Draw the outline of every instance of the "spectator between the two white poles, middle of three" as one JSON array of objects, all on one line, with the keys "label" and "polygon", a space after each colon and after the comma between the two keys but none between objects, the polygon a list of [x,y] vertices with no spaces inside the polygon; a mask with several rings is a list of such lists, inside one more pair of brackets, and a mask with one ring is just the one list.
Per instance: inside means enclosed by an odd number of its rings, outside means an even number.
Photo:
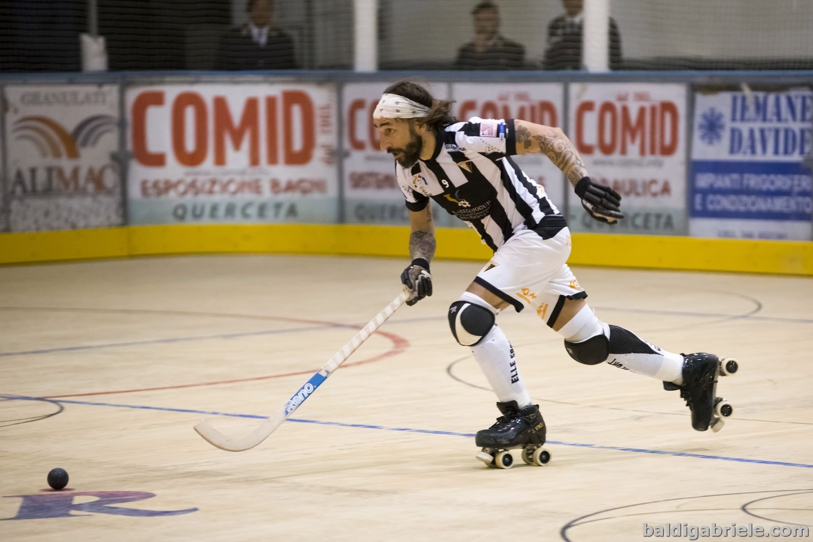
[{"label": "spectator between the two white poles, middle of three", "polygon": [[519,70],[525,48],[499,33],[500,15],[493,2],[480,2],[472,11],[474,40],[458,51],[454,65],[460,70]]}]

